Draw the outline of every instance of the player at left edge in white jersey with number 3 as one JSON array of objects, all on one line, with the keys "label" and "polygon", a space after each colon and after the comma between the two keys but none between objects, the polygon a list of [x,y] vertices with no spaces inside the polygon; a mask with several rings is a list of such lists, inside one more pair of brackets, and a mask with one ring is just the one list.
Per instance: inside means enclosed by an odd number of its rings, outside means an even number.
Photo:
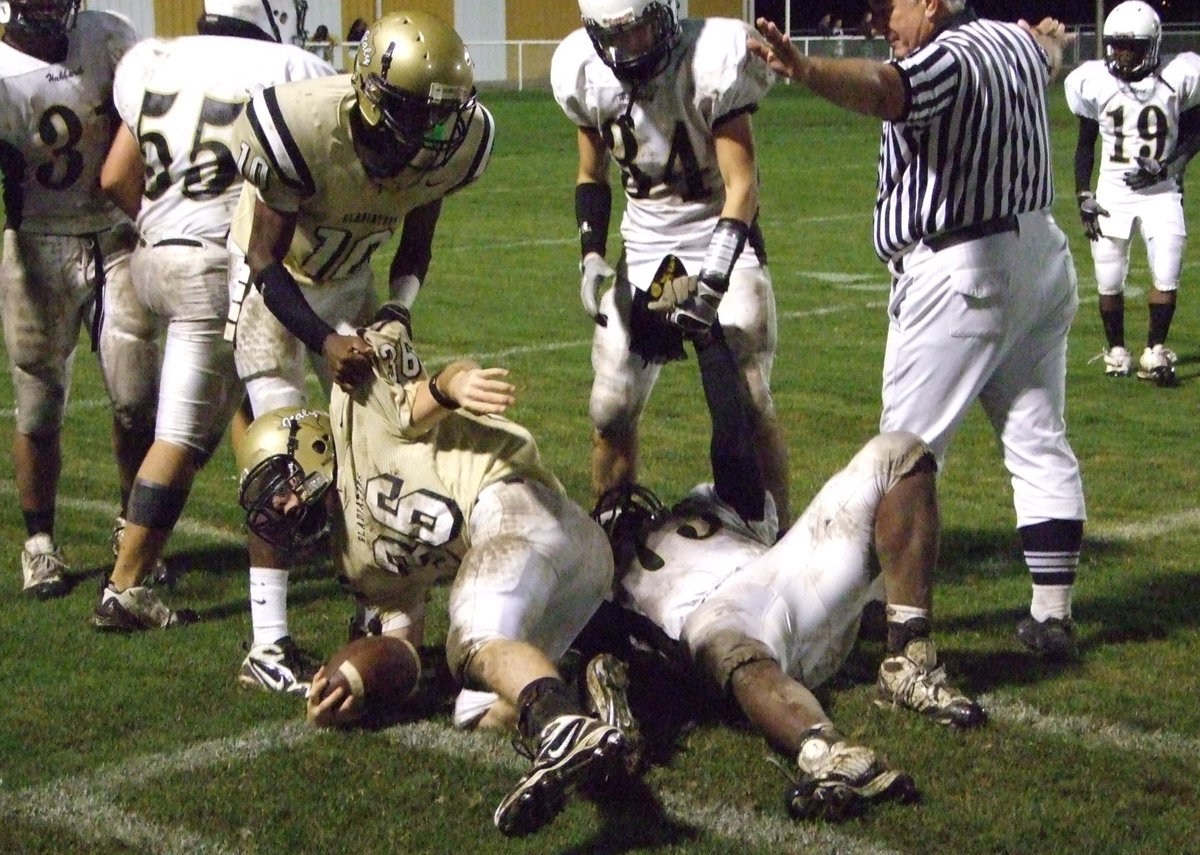
[{"label": "player at left edge in white jersey with number 3", "polygon": [[54,518],[82,325],[90,327],[113,402],[122,515],[154,438],[158,347],[146,330],[113,323],[136,303],[128,264],[136,234],[97,180],[116,127],[113,72],[137,36],[115,14],[79,12],[78,0],[0,2],[0,24],[7,217],[0,287],[17,405],[12,459],[29,536],[24,587],[42,598],[67,590]]}]

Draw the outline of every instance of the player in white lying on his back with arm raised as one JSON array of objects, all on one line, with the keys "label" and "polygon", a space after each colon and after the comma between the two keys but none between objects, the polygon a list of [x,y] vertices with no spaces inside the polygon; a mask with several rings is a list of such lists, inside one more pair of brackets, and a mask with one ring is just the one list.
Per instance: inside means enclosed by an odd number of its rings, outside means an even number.
[{"label": "player in white lying on his back with arm raised", "polygon": [[[774,747],[796,758],[799,773],[787,794],[794,817],[840,819],[870,800],[908,801],[912,778],[851,745],[812,692],[841,668],[864,606],[882,588],[888,653],[877,702],[960,728],[986,721],[946,682],[929,638],[940,536],[934,454],[912,434],[876,436],[776,543],[737,367],[719,324],[712,331],[695,343],[713,418],[714,483],[670,509],[636,485],[600,500],[593,516],[613,546],[614,599],[655,627],[644,641],[732,696]],[[872,555],[882,568],[874,581]]]}]

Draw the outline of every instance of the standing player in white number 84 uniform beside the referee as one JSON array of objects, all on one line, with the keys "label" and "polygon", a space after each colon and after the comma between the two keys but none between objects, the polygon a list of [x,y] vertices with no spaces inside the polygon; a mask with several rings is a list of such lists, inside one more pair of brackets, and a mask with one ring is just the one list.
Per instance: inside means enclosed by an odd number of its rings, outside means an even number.
[{"label": "standing player in white number 84 uniform beside the referee", "polygon": [[[655,270],[671,253],[695,274],[694,293],[671,317],[695,328],[721,318],[786,527],[787,446],[770,395],[775,298],[757,225],[750,122],[773,76],[746,53],[751,30],[743,22],[680,22],[677,7],[580,0],[583,29],[563,40],[551,65],[554,97],[578,138],[580,297],[595,321],[592,488],[599,497],[636,478],[638,419],[662,363],[684,358],[678,336],[647,312]],[[616,273],[606,261],[612,161],[626,201]]]}]

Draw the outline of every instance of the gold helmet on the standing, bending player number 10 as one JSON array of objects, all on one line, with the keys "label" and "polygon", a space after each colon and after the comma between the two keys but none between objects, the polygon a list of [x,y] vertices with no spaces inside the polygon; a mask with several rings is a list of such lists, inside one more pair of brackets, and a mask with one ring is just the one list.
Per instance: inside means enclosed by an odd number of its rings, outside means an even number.
[{"label": "gold helmet on the standing, bending player number 10", "polygon": [[475,112],[475,66],[451,26],[426,12],[389,14],[367,28],[352,76],[362,121],[391,132],[409,160],[444,165]]}]

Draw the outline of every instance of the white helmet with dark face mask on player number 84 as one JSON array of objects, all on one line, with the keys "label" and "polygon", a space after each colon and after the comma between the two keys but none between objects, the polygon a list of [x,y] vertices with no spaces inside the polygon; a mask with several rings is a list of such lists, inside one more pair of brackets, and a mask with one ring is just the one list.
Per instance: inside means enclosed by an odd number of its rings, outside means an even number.
[{"label": "white helmet with dark face mask on player number 84", "polygon": [[677,0],[580,0],[583,29],[605,65],[623,80],[662,71],[679,41]]}]

